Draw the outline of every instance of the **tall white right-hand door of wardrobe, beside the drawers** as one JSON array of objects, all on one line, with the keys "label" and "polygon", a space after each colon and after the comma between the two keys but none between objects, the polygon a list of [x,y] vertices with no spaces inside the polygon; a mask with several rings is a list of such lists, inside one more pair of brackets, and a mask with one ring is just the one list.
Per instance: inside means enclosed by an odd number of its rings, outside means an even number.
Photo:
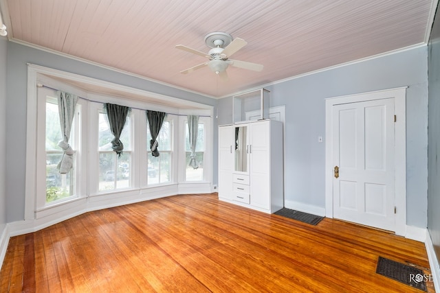
[{"label": "tall white right-hand door of wardrobe, beside the drawers", "polygon": [[270,209],[270,121],[250,126],[250,204]]}]

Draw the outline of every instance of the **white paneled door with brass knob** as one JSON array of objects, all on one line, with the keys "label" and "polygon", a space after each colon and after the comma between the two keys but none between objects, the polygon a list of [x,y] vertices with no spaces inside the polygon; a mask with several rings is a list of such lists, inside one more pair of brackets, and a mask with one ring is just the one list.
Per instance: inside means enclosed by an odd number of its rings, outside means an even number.
[{"label": "white paneled door with brass knob", "polygon": [[395,231],[394,99],[333,105],[333,217]]}]

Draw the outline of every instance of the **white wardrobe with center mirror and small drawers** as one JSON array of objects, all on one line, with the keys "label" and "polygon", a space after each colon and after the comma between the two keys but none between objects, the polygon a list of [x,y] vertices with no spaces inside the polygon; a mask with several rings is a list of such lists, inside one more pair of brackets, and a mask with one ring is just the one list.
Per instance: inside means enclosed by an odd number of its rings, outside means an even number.
[{"label": "white wardrobe with center mirror and small drawers", "polygon": [[219,199],[265,213],[283,208],[283,124],[219,126]]}]

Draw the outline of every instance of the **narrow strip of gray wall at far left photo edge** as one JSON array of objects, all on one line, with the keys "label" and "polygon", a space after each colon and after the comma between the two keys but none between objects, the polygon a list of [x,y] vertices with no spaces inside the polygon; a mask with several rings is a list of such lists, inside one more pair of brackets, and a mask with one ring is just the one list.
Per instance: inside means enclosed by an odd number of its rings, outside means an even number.
[{"label": "narrow strip of gray wall at far left photo edge", "polygon": [[[8,39],[0,36],[0,137],[6,137],[6,68]],[[6,226],[6,152],[5,139],[0,139],[0,235]]]}]

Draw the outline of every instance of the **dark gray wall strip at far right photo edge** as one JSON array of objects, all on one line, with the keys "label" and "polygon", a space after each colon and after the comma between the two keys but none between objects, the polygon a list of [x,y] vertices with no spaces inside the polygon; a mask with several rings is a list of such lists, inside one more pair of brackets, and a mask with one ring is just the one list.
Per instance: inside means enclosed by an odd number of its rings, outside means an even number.
[{"label": "dark gray wall strip at far right photo edge", "polygon": [[428,231],[440,263],[440,19],[428,43]]}]

